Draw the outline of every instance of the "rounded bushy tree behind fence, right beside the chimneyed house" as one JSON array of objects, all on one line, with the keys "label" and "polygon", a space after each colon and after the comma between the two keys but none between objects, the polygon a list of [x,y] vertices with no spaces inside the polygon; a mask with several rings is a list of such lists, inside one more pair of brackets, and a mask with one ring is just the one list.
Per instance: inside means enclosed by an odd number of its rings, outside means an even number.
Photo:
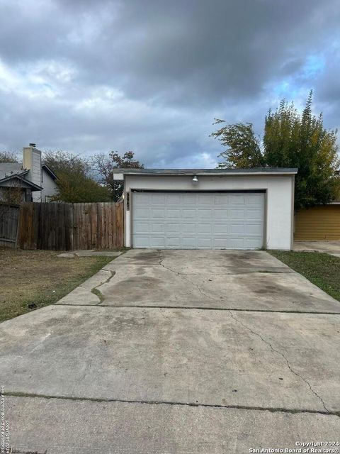
[{"label": "rounded bushy tree behind fence, right beside the chimneyed house", "polygon": [[57,194],[54,201],[96,202],[111,201],[106,187],[90,176],[89,161],[64,151],[47,152],[44,162],[57,175]]}]

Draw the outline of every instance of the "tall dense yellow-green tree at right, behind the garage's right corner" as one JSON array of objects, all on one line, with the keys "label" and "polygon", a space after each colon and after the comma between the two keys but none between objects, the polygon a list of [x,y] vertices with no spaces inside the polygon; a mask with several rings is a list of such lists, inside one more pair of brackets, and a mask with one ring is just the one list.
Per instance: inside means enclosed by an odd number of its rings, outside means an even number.
[{"label": "tall dense yellow-green tree at right, behind the garage's right corner", "polygon": [[302,115],[281,101],[266,116],[263,157],[269,167],[298,167],[295,208],[327,204],[338,196],[337,131],[327,131],[322,114],[312,114],[312,92]]}]

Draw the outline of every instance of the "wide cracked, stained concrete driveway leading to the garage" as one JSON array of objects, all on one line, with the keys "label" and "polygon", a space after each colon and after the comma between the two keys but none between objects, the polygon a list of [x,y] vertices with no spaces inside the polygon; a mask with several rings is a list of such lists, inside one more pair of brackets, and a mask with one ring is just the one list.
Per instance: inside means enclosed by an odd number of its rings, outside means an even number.
[{"label": "wide cracked, stained concrete driveway leading to the garage", "polygon": [[21,452],[339,441],[340,303],[263,251],[130,250],[0,342]]}]

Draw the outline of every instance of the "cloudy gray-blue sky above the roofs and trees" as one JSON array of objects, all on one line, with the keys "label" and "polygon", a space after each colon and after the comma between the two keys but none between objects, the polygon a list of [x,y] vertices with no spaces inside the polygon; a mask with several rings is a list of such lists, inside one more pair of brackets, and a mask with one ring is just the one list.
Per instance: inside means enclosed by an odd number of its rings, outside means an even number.
[{"label": "cloudy gray-blue sky above the roofs and trees", "polygon": [[0,0],[0,150],[215,167],[214,117],[340,123],[339,0]]}]

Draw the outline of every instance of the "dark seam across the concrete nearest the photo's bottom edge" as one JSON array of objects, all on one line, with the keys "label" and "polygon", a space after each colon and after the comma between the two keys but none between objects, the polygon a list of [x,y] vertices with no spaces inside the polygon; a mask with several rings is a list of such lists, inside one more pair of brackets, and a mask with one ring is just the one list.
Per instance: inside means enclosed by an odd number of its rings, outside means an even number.
[{"label": "dark seam across the concrete nearest the photo's bottom edge", "polygon": [[59,399],[59,400],[72,400],[75,402],[118,402],[121,404],[144,404],[144,405],[172,405],[172,406],[193,406],[204,407],[212,409],[237,409],[237,410],[254,410],[254,411],[270,411],[271,413],[289,413],[289,414],[323,414],[325,416],[338,416],[340,418],[340,411],[322,411],[312,409],[285,409],[283,407],[272,406],[246,406],[246,405],[222,405],[222,404],[198,404],[196,402],[169,402],[160,400],[133,400],[133,399],[105,399],[100,397],[74,397],[74,396],[50,396],[48,394],[30,394],[25,392],[5,392],[4,396],[7,397],[21,397],[24,399]]}]

